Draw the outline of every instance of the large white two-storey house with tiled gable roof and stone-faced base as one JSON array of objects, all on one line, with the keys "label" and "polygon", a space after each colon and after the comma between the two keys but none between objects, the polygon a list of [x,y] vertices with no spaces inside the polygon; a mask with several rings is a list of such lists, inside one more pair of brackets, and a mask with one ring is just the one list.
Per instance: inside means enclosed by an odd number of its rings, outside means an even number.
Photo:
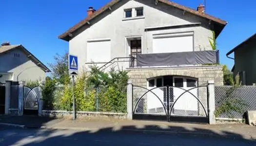
[{"label": "large white two-storey house with tiled gable roof and stone-faced base", "polygon": [[[70,54],[78,55],[79,70],[114,66],[147,89],[188,90],[208,80],[223,85],[222,66],[204,64],[218,63],[209,37],[213,31],[218,37],[227,22],[206,14],[203,5],[195,10],[169,0],[112,0],[97,11],[90,7],[87,15],[59,36],[69,41]],[[185,100],[188,110],[198,110],[197,101]],[[156,102],[148,99],[147,109],[156,109]]]}]

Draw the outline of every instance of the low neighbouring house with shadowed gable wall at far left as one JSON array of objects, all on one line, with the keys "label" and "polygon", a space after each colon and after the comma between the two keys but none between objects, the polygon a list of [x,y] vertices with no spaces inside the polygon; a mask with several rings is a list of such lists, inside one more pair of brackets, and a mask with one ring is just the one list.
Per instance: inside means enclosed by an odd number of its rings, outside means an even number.
[{"label": "low neighbouring house with shadowed gable wall at far left", "polygon": [[0,46],[0,82],[44,80],[50,70],[22,45]]}]

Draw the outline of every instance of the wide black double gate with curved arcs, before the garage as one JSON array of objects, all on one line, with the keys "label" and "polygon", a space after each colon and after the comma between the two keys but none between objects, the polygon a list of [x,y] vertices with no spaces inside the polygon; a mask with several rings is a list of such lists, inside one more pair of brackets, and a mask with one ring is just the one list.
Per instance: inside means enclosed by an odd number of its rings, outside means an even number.
[{"label": "wide black double gate with curved arcs, before the garage", "polygon": [[209,123],[208,88],[133,86],[133,119]]}]

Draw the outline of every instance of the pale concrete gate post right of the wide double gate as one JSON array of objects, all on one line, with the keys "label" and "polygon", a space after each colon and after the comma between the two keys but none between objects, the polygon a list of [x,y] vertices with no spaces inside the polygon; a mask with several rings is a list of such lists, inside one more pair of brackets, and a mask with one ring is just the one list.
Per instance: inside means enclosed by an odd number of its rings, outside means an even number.
[{"label": "pale concrete gate post right of the wide double gate", "polygon": [[208,81],[208,118],[209,124],[216,124],[215,119],[215,87],[214,81]]}]

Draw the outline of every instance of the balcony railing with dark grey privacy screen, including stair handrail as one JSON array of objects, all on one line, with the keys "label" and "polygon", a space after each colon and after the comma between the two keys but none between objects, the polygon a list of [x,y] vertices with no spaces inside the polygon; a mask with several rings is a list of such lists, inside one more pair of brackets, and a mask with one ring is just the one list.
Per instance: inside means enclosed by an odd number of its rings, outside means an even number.
[{"label": "balcony railing with dark grey privacy screen, including stair handrail", "polygon": [[89,66],[98,66],[101,71],[108,71],[111,68],[116,70],[133,68],[164,68],[175,66],[196,66],[219,63],[218,51],[196,51],[160,54],[140,54],[129,57],[115,57],[109,62],[86,62]]}]

